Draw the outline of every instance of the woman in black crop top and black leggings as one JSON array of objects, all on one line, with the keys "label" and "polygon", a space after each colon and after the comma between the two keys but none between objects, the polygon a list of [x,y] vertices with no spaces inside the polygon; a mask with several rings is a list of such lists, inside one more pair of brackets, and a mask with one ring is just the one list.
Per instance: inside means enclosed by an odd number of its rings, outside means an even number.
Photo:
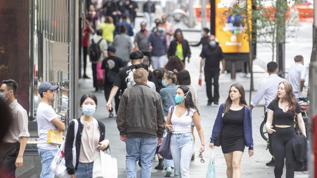
[{"label": "woman in black crop top and black leggings", "polygon": [[305,137],[306,129],[300,107],[293,93],[292,85],[288,82],[280,82],[277,88],[277,97],[267,108],[266,130],[269,134],[272,134],[271,144],[275,160],[275,178],[281,178],[284,160],[286,164],[286,178],[294,178],[296,160],[294,158],[292,142],[296,137],[293,127],[295,116],[297,116],[298,127]]}]

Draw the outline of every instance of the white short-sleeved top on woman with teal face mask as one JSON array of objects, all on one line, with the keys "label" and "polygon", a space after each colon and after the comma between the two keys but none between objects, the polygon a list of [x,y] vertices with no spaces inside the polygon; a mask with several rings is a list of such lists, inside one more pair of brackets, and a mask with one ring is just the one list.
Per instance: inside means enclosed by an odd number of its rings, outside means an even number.
[{"label": "white short-sleeved top on woman with teal face mask", "polygon": [[[174,111],[171,117],[173,129],[174,129],[173,133],[191,132],[191,126],[192,126],[191,124],[193,122],[193,115],[196,112],[196,109],[191,108],[188,115],[187,115],[188,111],[186,110],[182,116],[178,117],[175,114],[177,107],[178,105],[174,107]],[[171,108],[172,107],[168,109],[170,113],[171,113]]]}]

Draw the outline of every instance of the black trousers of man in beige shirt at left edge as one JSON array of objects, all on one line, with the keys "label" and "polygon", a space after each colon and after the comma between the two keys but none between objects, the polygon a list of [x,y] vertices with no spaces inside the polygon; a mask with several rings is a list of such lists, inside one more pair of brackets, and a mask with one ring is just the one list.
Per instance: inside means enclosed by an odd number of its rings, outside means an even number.
[{"label": "black trousers of man in beige shirt at left edge", "polygon": [[[3,178],[16,177],[16,160],[20,150],[20,143],[3,143],[0,151],[0,168]],[[0,177],[1,177],[0,176]]]}]

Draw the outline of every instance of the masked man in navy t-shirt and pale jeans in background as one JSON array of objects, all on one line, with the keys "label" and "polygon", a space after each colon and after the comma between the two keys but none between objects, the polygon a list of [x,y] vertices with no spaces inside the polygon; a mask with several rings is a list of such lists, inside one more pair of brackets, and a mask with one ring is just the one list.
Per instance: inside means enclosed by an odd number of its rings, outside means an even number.
[{"label": "masked man in navy t-shirt and pale jeans in background", "polygon": [[152,50],[152,67],[153,69],[164,69],[167,63],[167,45],[162,22],[156,23],[154,32],[149,37],[150,50]]}]

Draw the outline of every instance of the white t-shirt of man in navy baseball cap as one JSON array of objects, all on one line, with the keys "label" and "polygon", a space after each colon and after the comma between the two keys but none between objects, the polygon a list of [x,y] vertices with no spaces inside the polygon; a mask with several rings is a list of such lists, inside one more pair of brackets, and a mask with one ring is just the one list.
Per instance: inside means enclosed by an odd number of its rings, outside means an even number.
[{"label": "white t-shirt of man in navy baseball cap", "polygon": [[50,105],[40,102],[36,113],[39,133],[38,148],[47,150],[59,149],[57,145],[47,143],[48,130],[58,130],[58,128],[51,122],[53,119],[58,117],[55,110]]}]

